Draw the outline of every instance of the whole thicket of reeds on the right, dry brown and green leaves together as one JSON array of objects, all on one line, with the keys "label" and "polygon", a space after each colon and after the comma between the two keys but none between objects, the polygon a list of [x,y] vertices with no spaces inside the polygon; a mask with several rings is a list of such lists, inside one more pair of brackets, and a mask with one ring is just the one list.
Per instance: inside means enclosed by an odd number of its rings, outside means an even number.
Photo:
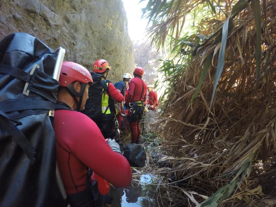
[{"label": "whole thicket of reeds on the right, dry brown and green leaves together", "polygon": [[171,31],[176,56],[160,69],[167,166],[145,170],[165,175],[160,187],[175,206],[276,205],[276,1],[218,1],[215,10],[212,1],[199,38],[181,36],[181,21],[188,4],[193,12],[209,0],[149,2],[152,41],[162,46]]}]

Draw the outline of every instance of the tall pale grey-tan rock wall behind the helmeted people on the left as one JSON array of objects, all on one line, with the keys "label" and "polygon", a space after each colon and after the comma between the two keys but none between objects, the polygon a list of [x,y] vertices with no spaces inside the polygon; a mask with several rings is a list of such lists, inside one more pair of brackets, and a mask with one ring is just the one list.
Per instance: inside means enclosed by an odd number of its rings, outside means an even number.
[{"label": "tall pale grey-tan rock wall behind the helmeted people on the left", "polygon": [[1,0],[0,10],[0,39],[29,33],[53,49],[62,46],[64,60],[90,70],[95,60],[106,59],[112,82],[133,73],[133,47],[121,0]]}]

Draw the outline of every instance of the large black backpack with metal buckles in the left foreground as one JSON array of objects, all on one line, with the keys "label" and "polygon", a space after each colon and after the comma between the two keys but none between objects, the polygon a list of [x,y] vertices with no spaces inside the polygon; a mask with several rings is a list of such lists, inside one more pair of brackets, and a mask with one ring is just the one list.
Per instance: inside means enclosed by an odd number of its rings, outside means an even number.
[{"label": "large black backpack with metal buckles in the left foreground", "polygon": [[26,33],[0,42],[0,206],[67,206],[57,185],[50,119],[59,87],[52,78],[56,59]]}]

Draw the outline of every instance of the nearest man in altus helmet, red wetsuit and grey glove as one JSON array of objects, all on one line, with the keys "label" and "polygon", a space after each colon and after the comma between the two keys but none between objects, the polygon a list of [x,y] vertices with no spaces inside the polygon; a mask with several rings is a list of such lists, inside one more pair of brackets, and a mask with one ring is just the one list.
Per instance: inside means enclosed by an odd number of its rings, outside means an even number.
[{"label": "nearest man in altus helmet, red wetsuit and grey glove", "polygon": [[67,199],[71,207],[104,206],[110,202],[99,195],[91,171],[116,187],[127,187],[132,179],[130,165],[118,143],[111,139],[106,142],[95,122],[76,111],[84,109],[89,84],[93,83],[88,70],[77,63],[63,62],[59,82],[54,131]]}]

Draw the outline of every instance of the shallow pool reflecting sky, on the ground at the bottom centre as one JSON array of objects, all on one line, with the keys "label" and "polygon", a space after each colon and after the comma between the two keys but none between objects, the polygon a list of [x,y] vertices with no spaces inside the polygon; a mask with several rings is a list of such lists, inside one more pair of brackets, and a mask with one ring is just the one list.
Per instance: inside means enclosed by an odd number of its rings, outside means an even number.
[{"label": "shallow pool reflecting sky, on the ground at the bottom centre", "polygon": [[[158,178],[152,174],[145,174],[140,177],[140,183],[132,182],[132,186],[124,188],[112,188],[110,196],[114,198],[112,207],[157,207],[160,199],[157,197]],[[159,192],[159,190],[158,190]],[[159,193],[158,193],[159,194]]]}]

